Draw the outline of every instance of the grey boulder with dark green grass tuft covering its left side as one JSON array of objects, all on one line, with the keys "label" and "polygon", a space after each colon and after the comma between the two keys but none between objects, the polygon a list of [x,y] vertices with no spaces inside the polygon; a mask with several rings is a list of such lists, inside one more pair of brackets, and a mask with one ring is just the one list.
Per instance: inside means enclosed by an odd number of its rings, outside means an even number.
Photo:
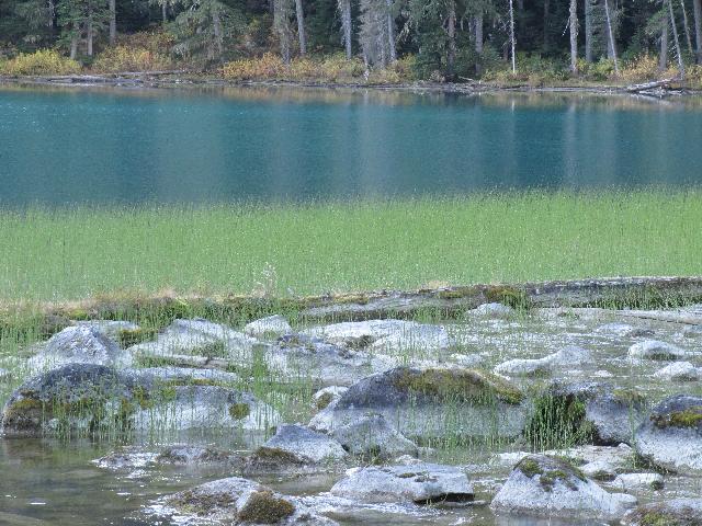
[{"label": "grey boulder with dark green grass tuft covering its left side", "polygon": [[601,382],[554,382],[535,399],[525,434],[539,447],[559,446],[559,437],[599,445],[632,444],[646,410],[644,398],[632,389]]}]

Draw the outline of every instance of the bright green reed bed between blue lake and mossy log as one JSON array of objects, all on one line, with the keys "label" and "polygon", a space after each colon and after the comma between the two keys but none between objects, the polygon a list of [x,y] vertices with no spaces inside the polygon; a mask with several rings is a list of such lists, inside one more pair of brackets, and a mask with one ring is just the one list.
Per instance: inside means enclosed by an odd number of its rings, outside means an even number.
[{"label": "bright green reed bed between blue lake and mossy log", "polygon": [[0,211],[0,298],[702,274],[702,191]]}]

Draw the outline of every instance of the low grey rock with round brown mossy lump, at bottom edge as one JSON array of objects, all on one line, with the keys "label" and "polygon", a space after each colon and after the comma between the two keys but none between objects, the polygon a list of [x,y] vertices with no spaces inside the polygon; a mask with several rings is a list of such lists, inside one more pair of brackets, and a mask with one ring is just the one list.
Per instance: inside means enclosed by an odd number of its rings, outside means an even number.
[{"label": "low grey rock with round brown mossy lump, at bottom edge", "polygon": [[332,526],[294,499],[247,479],[231,477],[181,491],[163,500],[180,515],[218,524]]}]

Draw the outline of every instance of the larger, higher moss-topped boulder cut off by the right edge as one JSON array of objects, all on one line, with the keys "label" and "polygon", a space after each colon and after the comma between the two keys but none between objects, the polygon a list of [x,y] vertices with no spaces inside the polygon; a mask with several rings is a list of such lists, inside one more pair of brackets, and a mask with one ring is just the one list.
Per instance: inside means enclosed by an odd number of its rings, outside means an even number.
[{"label": "larger, higher moss-topped boulder cut off by the right edge", "polygon": [[702,472],[702,397],[678,395],[658,403],[636,430],[636,451],[659,468]]}]

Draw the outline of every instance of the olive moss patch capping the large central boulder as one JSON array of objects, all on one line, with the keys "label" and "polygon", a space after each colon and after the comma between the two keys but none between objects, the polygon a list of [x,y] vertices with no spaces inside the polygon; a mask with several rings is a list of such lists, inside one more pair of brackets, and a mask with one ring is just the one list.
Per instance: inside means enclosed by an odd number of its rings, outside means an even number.
[{"label": "olive moss patch capping the large central boulder", "polygon": [[399,390],[408,390],[442,400],[486,404],[500,400],[518,404],[523,393],[510,382],[478,369],[401,368],[393,380]]}]

